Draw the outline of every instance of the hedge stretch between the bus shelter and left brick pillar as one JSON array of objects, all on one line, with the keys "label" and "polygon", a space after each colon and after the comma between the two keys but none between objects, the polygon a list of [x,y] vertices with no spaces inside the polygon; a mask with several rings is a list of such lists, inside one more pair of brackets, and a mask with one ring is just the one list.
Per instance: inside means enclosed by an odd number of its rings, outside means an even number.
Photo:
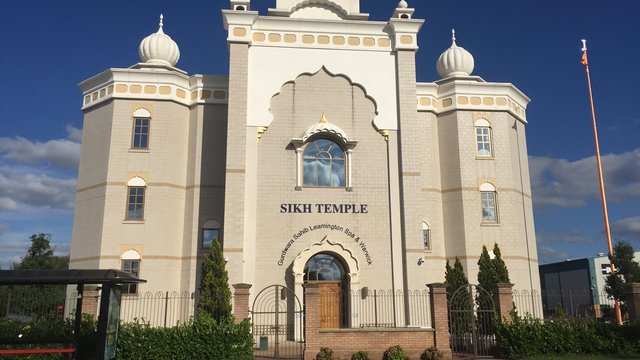
[{"label": "hedge stretch between the bus shelter and left brick pillar", "polygon": [[122,324],[118,359],[253,359],[251,324],[207,315],[172,328]]}]

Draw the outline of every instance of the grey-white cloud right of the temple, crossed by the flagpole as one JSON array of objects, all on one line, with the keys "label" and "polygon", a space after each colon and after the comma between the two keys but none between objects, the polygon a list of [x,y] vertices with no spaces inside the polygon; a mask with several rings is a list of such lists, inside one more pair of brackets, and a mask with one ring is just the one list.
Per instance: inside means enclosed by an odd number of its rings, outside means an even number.
[{"label": "grey-white cloud right of the temple, crossed by the flagpole", "polygon": [[[607,198],[640,198],[640,149],[602,157]],[[595,156],[577,161],[531,156],[531,186],[537,206],[581,207],[599,199]]]}]

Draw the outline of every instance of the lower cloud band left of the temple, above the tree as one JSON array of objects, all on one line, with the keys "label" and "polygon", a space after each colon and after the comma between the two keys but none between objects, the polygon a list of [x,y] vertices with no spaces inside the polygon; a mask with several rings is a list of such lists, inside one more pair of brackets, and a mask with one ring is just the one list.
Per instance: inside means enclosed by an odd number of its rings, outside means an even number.
[{"label": "lower cloud band left of the temple, above the tree", "polygon": [[25,205],[72,209],[75,191],[75,179],[19,174],[8,166],[0,166],[0,210],[19,211]]}]

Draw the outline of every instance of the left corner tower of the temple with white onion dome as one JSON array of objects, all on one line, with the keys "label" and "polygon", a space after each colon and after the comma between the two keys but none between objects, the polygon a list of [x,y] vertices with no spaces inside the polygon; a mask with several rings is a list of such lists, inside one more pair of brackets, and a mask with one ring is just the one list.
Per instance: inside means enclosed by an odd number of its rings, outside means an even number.
[{"label": "left corner tower of the temple with white onion dome", "polygon": [[70,263],[149,280],[127,289],[131,295],[193,291],[200,229],[222,223],[227,79],[177,68],[180,50],[162,16],[138,53],[139,63],[79,84],[84,127]]}]

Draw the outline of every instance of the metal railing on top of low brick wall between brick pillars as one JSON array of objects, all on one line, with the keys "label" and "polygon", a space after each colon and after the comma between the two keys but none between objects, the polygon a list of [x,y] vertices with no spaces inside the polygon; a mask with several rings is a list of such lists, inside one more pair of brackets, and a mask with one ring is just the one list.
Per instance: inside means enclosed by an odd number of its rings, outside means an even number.
[{"label": "metal railing on top of low brick wall between brick pillars", "polygon": [[[321,305],[331,304],[321,293]],[[428,290],[370,290],[340,292],[340,326],[351,328],[431,328]],[[335,303],[335,301],[333,301]],[[330,307],[330,306],[329,306]],[[329,311],[331,311],[329,309]],[[322,312],[322,310],[321,310]],[[321,314],[322,315],[322,314]]]}]

